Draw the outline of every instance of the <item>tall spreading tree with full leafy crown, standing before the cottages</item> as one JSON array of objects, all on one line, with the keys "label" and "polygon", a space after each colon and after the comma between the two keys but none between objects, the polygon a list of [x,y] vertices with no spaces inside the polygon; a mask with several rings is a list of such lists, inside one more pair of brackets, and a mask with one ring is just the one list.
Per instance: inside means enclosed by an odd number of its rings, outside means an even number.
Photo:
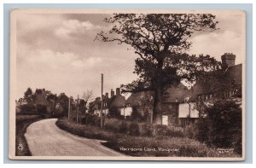
[{"label": "tall spreading tree with full leafy crown, standing before the cottages", "polygon": [[113,14],[105,22],[113,24],[109,32],[96,39],[131,45],[139,56],[135,72],[139,76],[125,91],[154,90],[154,119],[161,113],[166,84],[194,81],[197,74],[219,67],[209,55],[187,55],[189,38],[194,32],[214,31],[218,21],[212,14]]}]

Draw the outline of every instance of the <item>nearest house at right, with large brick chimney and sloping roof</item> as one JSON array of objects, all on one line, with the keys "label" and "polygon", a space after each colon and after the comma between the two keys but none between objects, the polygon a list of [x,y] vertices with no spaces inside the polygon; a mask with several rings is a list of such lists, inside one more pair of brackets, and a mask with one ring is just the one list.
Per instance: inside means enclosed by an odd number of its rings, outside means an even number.
[{"label": "nearest house at right, with large brick chimney and sloping roof", "polygon": [[218,84],[219,78],[223,77],[214,77],[211,80],[199,78],[188,91],[184,102],[179,104],[179,125],[186,125],[199,118],[199,112],[195,109],[195,103],[198,101],[212,104],[213,101],[230,99],[241,105],[241,64],[235,65],[236,55],[231,53],[225,53],[221,58],[222,64],[226,67],[224,83],[233,83],[236,87],[227,88],[223,84]]}]

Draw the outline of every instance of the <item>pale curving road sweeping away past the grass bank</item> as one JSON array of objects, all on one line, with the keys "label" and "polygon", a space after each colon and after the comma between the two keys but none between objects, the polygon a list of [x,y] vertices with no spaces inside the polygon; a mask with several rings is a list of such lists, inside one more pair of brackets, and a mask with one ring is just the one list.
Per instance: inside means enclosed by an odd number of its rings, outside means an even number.
[{"label": "pale curving road sweeping away past the grass bank", "polygon": [[26,141],[33,156],[121,156],[102,146],[99,140],[59,129],[56,120],[44,119],[27,127]]}]

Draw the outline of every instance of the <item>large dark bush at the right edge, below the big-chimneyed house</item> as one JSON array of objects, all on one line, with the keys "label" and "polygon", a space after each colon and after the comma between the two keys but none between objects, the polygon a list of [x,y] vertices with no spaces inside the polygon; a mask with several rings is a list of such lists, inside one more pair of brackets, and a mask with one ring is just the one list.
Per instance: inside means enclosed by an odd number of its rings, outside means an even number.
[{"label": "large dark bush at the right edge, below the big-chimneyed house", "polygon": [[215,101],[206,107],[207,117],[197,122],[200,142],[218,148],[234,148],[241,154],[241,108],[235,101]]}]

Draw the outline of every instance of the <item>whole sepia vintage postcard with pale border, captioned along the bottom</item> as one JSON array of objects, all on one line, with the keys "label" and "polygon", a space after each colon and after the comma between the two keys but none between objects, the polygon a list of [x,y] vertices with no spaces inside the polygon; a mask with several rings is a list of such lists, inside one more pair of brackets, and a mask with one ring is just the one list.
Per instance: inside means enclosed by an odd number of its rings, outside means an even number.
[{"label": "whole sepia vintage postcard with pale border, captioned along the bottom", "polygon": [[245,160],[246,13],[13,9],[10,159]]}]

